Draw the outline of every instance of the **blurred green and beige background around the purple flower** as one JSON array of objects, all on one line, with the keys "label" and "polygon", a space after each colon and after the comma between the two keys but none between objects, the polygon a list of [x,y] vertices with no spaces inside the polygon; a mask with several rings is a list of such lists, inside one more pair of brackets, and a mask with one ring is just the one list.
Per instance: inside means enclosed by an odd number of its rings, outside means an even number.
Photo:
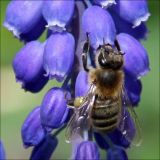
[{"label": "blurred green and beige background around the purple flower", "polygon": [[[1,54],[1,139],[4,143],[7,159],[28,159],[31,149],[22,146],[20,129],[28,113],[37,105],[46,91],[54,85],[50,83],[38,94],[24,92],[15,82],[11,67],[12,59],[23,46],[10,32],[2,27],[5,8],[8,1],[0,1],[0,54]],[[148,50],[151,72],[142,78],[143,91],[136,112],[141,122],[143,143],[140,147],[128,149],[130,159],[159,160],[159,0],[149,0],[151,17],[147,22],[148,40],[143,45]],[[45,35],[41,37],[44,40]],[[53,159],[68,159],[71,146],[65,143],[64,133],[59,135],[60,141]],[[105,153],[102,156],[105,159]]]}]

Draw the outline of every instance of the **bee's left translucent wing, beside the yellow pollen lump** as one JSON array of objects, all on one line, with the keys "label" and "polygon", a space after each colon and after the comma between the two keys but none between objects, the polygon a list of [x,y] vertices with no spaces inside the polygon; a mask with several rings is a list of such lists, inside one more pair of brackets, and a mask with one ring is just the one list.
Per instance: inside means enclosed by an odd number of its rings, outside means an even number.
[{"label": "bee's left translucent wing, beside the yellow pollen lump", "polygon": [[66,128],[66,141],[71,142],[77,138],[84,138],[90,129],[90,111],[95,100],[95,85],[91,85],[82,105],[74,109],[74,113]]}]

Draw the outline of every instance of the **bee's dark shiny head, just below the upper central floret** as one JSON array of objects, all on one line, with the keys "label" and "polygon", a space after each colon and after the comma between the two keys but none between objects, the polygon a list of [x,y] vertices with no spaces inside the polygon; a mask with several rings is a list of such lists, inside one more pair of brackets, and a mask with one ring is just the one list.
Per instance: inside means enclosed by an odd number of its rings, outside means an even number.
[{"label": "bee's dark shiny head, just below the upper central floret", "polygon": [[101,68],[117,70],[123,66],[123,54],[109,44],[100,46],[98,53],[98,64]]}]

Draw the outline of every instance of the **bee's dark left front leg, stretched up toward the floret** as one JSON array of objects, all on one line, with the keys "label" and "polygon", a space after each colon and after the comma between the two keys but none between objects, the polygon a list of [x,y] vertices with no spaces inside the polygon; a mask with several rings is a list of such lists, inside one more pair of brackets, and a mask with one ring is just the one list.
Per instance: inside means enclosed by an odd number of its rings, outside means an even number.
[{"label": "bee's dark left front leg, stretched up toward the floret", "polygon": [[83,62],[83,68],[86,72],[89,72],[89,67],[87,66],[87,57],[90,50],[90,44],[89,44],[89,37],[87,33],[87,40],[83,45],[83,52],[82,52],[82,62]]}]

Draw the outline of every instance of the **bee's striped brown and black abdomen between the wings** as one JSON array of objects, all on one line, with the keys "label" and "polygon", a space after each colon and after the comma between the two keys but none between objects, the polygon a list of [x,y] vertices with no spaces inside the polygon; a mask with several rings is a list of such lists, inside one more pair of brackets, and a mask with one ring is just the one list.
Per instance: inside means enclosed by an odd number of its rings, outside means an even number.
[{"label": "bee's striped brown and black abdomen between the wings", "polygon": [[91,112],[92,127],[95,131],[110,132],[119,124],[119,103],[113,100],[96,100]]}]

